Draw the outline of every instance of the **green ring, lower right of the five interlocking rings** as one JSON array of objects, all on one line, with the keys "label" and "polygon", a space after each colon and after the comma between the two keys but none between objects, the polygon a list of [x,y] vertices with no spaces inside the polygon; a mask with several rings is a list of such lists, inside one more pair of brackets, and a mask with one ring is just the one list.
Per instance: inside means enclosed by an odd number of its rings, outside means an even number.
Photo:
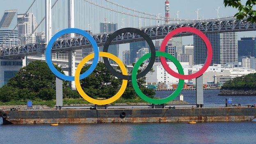
[{"label": "green ring, lower right of the five interlocking rings", "polygon": [[[170,59],[171,62],[173,62],[175,64],[175,66],[178,69],[178,73],[183,74],[184,75],[184,71],[183,68],[181,66],[181,63],[172,55],[169,55],[168,53],[164,53],[164,52],[156,52],[156,56],[161,56],[161,57],[166,57],[167,59]],[[133,66],[133,71],[132,71],[132,84],[133,84],[133,88],[135,90],[135,92],[137,93],[137,95],[142,98],[144,101],[148,102],[148,103],[152,103],[152,104],[164,104],[164,103],[168,103],[169,101],[172,101],[174,98],[176,98],[180,93],[181,90],[183,89],[183,85],[184,85],[184,80],[179,79],[178,82],[178,87],[177,89],[169,96],[167,96],[166,98],[162,98],[162,99],[153,99],[153,98],[149,98],[148,96],[146,96],[145,94],[142,93],[142,91],[139,89],[139,86],[137,84],[137,79],[136,79],[136,75],[138,72],[138,69],[140,67],[140,65],[146,60],[149,59],[151,57],[151,53],[148,53],[146,55],[144,55],[143,57],[141,57],[138,62]]]}]

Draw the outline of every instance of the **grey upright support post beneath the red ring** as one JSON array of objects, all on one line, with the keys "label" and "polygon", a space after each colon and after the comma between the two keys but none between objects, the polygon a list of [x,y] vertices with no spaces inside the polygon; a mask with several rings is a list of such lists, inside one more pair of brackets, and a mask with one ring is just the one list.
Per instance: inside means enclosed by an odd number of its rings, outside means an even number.
[{"label": "grey upright support post beneath the red ring", "polygon": [[196,78],[196,93],[197,107],[203,107],[203,75]]}]

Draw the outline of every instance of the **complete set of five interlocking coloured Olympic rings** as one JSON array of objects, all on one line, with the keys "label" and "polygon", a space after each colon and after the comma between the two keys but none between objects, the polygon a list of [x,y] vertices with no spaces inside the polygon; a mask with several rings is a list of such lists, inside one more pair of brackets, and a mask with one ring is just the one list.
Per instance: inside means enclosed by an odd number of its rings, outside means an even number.
[{"label": "complete set of five interlocking coloured Olympic rings", "polygon": [[[149,44],[149,47],[151,49],[151,53],[148,53],[148,54],[144,55],[143,57],[141,57],[138,60],[138,62],[135,64],[135,66],[133,67],[132,75],[128,75],[125,65],[121,62],[121,60],[118,57],[116,57],[115,55],[112,55],[111,53],[107,53],[107,49],[110,46],[111,41],[113,39],[115,39],[119,34],[123,34],[123,33],[126,33],[126,32],[139,34],[141,37],[143,37],[147,41],[147,43]],[[171,37],[173,37],[175,34],[178,34],[178,33],[181,33],[181,32],[192,32],[194,34],[197,34],[199,37],[201,37],[201,39],[203,39],[203,41],[204,41],[204,43],[206,44],[206,47],[207,47],[208,55],[207,55],[206,63],[204,64],[204,66],[202,67],[201,70],[199,70],[197,73],[194,73],[194,74],[191,74],[191,75],[184,75],[183,68],[182,68],[181,64],[178,62],[178,60],[175,57],[169,55],[168,53],[165,53],[165,46],[166,46],[167,42],[169,41],[169,39],[171,39]],[[82,61],[78,64],[78,67],[75,71],[75,76],[67,76],[67,75],[64,75],[64,74],[60,73],[59,71],[57,71],[57,69],[55,69],[55,67],[53,66],[52,60],[51,60],[51,47],[53,46],[55,41],[60,36],[62,36],[63,34],[68,34],[68,33],[77,33],[77,34],[83,35],[84,37],[86,37],[89,40],[89,42],[91,43],[91,45],[94,49],[94,53],[92,53],[92,54],[88,55],[87,57],[85,57],[84,59],[82,59]],[[164,69],[169,74],[171,74],[172,76],[174,76],[176,78],[179,78],[178,87],[174,91],[174,93],[172,93],[171,95],[169,95],[168,97],[163,98],[163,99],[149,98],[148,96],[146,96],[145,94],[142,93],[142,91],[139,89],[139,86],[137,84],[137,79],[142,78],[143,76],[146,75],[146,73],[148,73],[152,69],[156,56],[160,57],[162,66],[164,67]],[[105,99],[105,100],[97,100],[97,99],[91,98],[90,96],[85,94],[85,92],[83,91],[83,89],[80,85],[80,80],[83,79],[83,78],[86,78],[88,75],[90,75],[94,71],[94,69],[97,66],[99,57],[103,57],[105,66],[107,67],[107,69],[113,75],[115,75],[117,78],[123,79],[122,85],[121,85],[119,91],[117,92],[117,94],[115,94],[111,98],[108,98],[108,99]],[[135,29],[135,28],[123,28],[123,29],[117,30],[116,32],[111,34],[110,37],[107,39],[105,45],[104,45],[103,52],[99,52],[97,43],[91,37],[91,35],[89,35],[87,32],[85,32],[83,30],[76,29],[76,28],[64,29],[64,30],[61,30],[61,31],[57,32],[57,34],[55,34],[53,36],[53,38],[50,39],[50,41],[47,45],[47,48],[46,48],[46,62],[48,64],[50,70],[58,78],[60,78],[62,80],[75,81],[75,87],[77,88],[78,93],[86,101],[88,101],[90,103],[93,103],[93,104],[96,104],[96,105],[106,105],[106,104],[109,104],[109,103],[113,103],[118,98],[120,98],[121,95],[124,93],[124,91],[126,89],[126,86],[128,84],[128,80],[132,80],[132,85],[133,85],[133,88],[134,88],[135,92],[144,101],[146,101],[148,103],[153,103],[153,104],[168,103],[169,101],[176,98],[178,96],[178,94],[181,92],[181,90],[183,88],[184,80],[197,78],[197,77],[201,76],[208,69],[208,67],[210,66],[210,63],[212,61],[212,57],[213,57],[213,50],[212,50],[212,46],[210,44],[209,39],[201,31],[199,31],[195,28],[191,28],[191,27],[181,27],[181,28],[173,30],[172,32],[167,34],[167,36],[162,41],[162,44],[160,46],[160,52],[155,52],[155,46],[153,44],[153,41],[150,39],[150,37],[146,33],[142,32],[141,30]],[[80,72],[81,72],[82,67],[84,66],[84,64],[92,58],[94,58],[94,60],[91,64],[91,66],[89,67],[89,69],[85,73],[80,75]],[[119,73],[119,72],[115,71],[112,68],[112,66],[110,65],[110,63],[108,61],[108,58],[114,60],[114,62],[116,62],[119,65],[122,73]],[[144,69],[144,71],[142,71],[141,73],[137,74],[137,71],[138,71],[140,65],[146,59],[149,59],[149,58],[150,58],[150,61],[149,61],[148,66],[146,67],[146,69]],[[165,58],[170,59],[175,64],[175,66],[178,69],[178,73],[174,72],[173,70],[171,70],[169,68]]]}]

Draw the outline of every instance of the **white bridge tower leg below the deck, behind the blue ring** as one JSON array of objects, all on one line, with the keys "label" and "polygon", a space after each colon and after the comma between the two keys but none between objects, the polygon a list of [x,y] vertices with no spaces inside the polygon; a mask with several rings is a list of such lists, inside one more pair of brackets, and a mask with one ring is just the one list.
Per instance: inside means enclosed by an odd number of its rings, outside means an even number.
[{"label": "white bridge tower leg below the deck, behind the blue ring", "polygon": [[[69,51],[69,76],[75,75],[75,50]],[[69,81],[69,87],[75,90],[75,81]]]}]

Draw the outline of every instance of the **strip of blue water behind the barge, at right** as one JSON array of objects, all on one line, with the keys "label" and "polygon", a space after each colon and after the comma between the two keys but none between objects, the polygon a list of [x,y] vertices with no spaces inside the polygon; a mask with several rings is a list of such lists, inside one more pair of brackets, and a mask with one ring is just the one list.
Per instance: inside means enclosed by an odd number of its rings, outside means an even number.
[{"label": "strip of blue water behind the barge, at right", "polygon": [[[165,98],[169,96],[174,91],[156,91],[155,97]],[[181,91],[184,96],[184,101],[188,103],[196,103],[196,91]],[[256,96],[218,96],[219,90],[204,90],[203,91],[203,101],[205,107],[216,107],[224,106],[226,98],[232,98],[232,104],[242,104],[242,105],[252,105],[256,104]],[[175,100],[179,100],[179,96]]]}]

